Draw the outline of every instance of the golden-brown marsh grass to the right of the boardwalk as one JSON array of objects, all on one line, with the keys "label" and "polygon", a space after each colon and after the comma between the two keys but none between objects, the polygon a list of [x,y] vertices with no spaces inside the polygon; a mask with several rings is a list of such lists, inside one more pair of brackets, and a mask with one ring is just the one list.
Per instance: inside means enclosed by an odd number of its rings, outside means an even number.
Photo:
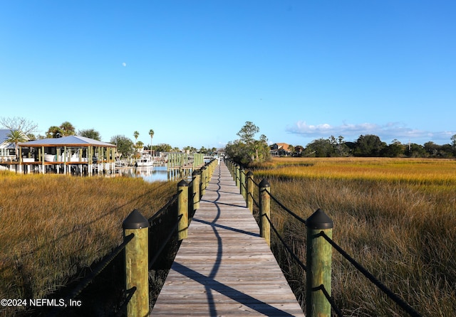
[{"label": "golden-brown marsh grass to the right of the boardwalk", "polygon": [[[455,316],[455,160],[289,158],[253,171],[304,219],[321,208],[333,219],[333,240],[423,316]],[[304,225],[271,208],[273,222],[305,261]],[[305,274],[274,243],[304,300]],[[332,294],[344,316],[407,316],[335,251]]]}]

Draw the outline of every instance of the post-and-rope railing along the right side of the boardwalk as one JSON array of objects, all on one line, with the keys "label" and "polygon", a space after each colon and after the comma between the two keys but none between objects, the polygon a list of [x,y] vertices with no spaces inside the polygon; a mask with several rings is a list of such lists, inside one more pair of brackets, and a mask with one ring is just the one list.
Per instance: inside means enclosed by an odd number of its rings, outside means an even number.
[{"label": "post-and-rope railing along the right side of the boardwalk", "polygon": [[[408,303],[401,299],[393,291],[388,289],[381,281],[373,274],[363,268],[361,264],[356,262],[353,257],[348,255],[336,242],[332,240],[333,221],[323,210],[318,209],[306,220],[293,213],[286,208],[279,200],[271,195],[271,185],[269,181],[263,179],[260,183],[254,182],[254,173],[252,171],[245,172],[245,168],[239,166],[229,159],[225,160],[227,167],[232,174],[236,185],[239,187],[239,193],[244,196],[247,202],[247,207],[252,211],[254,205],[259,209],[259,227],[260,235],[264,237],[269,246],[271,246],[271,231],[278,237],[287,252],[291,254],[297,264],[306,271],[306,316],[327,316],[331,317],[331,309],[337,316],[343,316],[341,310],[336,306],[336,303],[331,296],[331,262],[332,249],[336,249],[348,262],[350,262],[361,274],[366,276],[378,289],[383,291],[390,299],[398,304],[409,316],[421,316],[418,311],[415,311]],[[258,188],[259,202],[254,200],[254,185]],[[291,248],[286,245],[286,242],[281,238],[279,232],[275,229],[271,222],[271,203],[270,200],[283,208],[291,216],[295,217],[306,226],[307,241],[306,241],[306,264],[303,264],[299,257],[296,256]]]}]

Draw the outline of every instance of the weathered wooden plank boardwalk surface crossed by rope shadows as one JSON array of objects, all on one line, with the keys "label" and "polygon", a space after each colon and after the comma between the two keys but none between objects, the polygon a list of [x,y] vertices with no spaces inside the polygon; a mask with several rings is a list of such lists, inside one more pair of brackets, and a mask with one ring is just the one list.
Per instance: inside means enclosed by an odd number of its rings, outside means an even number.
[{"label": "weathered wooden plank boardwalk surface crossed by rope shadows", "polygon": [[223,162],[150,316],[304,316]]}]

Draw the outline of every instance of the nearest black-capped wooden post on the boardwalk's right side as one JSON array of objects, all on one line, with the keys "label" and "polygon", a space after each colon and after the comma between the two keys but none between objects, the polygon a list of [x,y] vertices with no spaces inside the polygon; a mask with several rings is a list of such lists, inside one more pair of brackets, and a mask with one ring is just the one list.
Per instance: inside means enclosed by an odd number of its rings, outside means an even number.
[{"label": "nearest black-capped wooden post on the boardwalk's right side", "polygon": [[323,231],[333,235],[333,220],[318,209],[306,220],[307,227],[307,281],[306,316],[331,317],[331,304],[319,288],[324,286],[331,295],[331,254],[332,246],[321,237]]}]

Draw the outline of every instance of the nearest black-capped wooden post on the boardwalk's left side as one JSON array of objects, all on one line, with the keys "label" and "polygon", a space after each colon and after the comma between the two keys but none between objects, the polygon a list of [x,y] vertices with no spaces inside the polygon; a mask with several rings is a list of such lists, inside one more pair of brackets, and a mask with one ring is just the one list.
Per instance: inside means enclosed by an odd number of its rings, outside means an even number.
[{"label": "nearest black-capped wooden post on the boardwalk's left side", "polygon": [[138,210],[123,221],[123,235],[135,237],[125,247],[125,289],[136,288],[127,304],[128,317],[149,315],[149,222]]}]

